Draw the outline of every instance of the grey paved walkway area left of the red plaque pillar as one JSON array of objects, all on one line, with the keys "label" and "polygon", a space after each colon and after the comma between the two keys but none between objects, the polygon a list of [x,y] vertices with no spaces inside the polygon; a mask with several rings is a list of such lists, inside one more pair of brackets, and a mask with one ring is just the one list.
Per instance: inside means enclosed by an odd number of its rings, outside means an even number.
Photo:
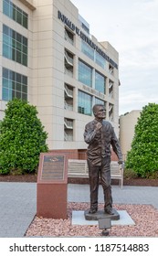
[{"label": "grey paved walkway area left of the red plaque pillar", "polygon": [[36,183],[0,182],[0,238],[22,238],[36,214]]}]

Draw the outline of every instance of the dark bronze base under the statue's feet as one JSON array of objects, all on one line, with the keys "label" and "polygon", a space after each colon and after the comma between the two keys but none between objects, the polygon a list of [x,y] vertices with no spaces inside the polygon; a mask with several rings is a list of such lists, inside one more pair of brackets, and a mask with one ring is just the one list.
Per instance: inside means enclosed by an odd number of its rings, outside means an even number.
[{"label": "dark bronze base under the statue's feet", "polygon": [[120,214],[115,208],[112,208],[113,214],[105,213],[104,210],[98,210],[96,213],[89,213],[90,209],[86,209],[84,212],[85,219],[87,220],[98,220],[102,218],[111,218],[111,220],[120,219]]}]

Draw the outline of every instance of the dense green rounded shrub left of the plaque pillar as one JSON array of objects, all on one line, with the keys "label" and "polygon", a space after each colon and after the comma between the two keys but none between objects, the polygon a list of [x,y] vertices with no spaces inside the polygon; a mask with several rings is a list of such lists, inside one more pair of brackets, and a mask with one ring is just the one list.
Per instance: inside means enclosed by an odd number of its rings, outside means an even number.
[{"label": "dense green rounded shrub left of the plaque pillar", "polygon": [[0,174],[34,173],[39,154],[47,152],[47,133],[37,109],[26,101],[8,101],[0,123]]}]

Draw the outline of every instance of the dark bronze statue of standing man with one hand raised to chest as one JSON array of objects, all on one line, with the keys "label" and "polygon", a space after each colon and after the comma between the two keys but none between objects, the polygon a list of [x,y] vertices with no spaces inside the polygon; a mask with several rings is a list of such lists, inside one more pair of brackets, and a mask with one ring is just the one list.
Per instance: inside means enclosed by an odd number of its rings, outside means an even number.
[{"label": "dark bronze statue of standing man with one hand raised to chest", "polygon": [[113,214],[111,197],[111,146],[122,164],[121,146],[111,123],[105,121],[105,107],[93,106],[95,119],[85,126],[84,140],[88,146],[90,176],[90,213],[98,210],[99,177],[104,193],[104,211]]}]

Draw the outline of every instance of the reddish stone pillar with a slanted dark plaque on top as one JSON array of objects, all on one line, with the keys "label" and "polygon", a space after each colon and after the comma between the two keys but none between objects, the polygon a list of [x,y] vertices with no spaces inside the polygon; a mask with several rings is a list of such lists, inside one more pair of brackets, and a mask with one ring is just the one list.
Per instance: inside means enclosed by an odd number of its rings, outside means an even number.
[{"label": "reddish stone pillar with a slanted dark plaque on top", "polygon": [[37,174],[37,217],[67,219],[68,158],[41,153]]}]

